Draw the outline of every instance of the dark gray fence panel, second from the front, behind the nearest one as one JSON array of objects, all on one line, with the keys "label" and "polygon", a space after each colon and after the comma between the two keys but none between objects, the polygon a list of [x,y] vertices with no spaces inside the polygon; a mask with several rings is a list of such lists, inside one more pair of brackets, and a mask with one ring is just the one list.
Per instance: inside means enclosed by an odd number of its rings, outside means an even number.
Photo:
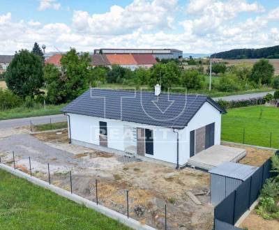
[{"label": "dark gray fence panel, second from the front, behind the nearest one", "polygon": [[243,215],[243,213],[250,208],[250,181],[252,178],[248,178],[244,181],[236,190],[236,202],[234,207],[234,224]]}]

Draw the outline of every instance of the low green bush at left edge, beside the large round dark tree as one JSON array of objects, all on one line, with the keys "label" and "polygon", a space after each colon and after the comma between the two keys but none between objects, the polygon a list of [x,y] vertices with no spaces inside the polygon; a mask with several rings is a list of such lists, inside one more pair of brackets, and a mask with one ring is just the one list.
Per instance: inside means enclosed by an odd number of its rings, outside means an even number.
[{"label": "low green bush at left edge, beside the large round dark tree", "polygon": [[13,94],[9,90],[0,89],[0,109],[13,109],[22,104],[19,96]]}]

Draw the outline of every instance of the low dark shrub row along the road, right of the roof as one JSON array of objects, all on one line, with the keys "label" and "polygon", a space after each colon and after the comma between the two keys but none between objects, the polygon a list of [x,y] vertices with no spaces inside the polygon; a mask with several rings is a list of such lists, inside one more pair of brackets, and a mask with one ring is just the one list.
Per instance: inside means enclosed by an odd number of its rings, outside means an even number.
[{"label": "low dark shrub row along the road, right of the roof", "polygon": [[224,109],[248,107],[252,105],[264,105],[265,102],[266,100],[264,100],[264,98],[250,98],[248,100],[232,100],[232,101],[226,101],[220,99],[217,101],[218,105],[220,105],[220,107],[223,107]]}]

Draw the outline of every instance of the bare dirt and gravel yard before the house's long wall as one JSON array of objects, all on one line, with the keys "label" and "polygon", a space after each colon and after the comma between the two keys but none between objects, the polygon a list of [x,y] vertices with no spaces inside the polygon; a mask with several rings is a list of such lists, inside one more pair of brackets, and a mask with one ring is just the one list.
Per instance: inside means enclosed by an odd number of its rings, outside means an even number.
[{"label": "bare dirt and gravel yard before the house's long wall", "polygon": [[[209,204],[209,174],[195,169],[175,170],[150,162],[129,159],[91,148],[68,144],[67,131],[38,135],[18,133],[0,137],[0,155],[16,167],[29,172],[29,156],[34,176],[47,181],[47,162],[51,182],[98,201],[126,214],[126,191],[129,191],[130,217],[152,227],[164,229],[167,204],[168,229],[212,229],[213,207]],[[186,194],[193,192],[202,205]]]}]

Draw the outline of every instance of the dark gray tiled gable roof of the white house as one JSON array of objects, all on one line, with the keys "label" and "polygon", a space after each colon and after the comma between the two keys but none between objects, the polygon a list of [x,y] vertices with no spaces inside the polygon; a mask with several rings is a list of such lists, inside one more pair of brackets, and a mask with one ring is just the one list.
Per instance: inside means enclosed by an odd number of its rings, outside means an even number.
[{"label": "dark gray tiled gable roof of the white house", "polygon": [[89,89],[61,111],[182,129],[204,102],[225,113],[216,102],[204,95],[161,93],[157,98],[151,92],[113,89]]}]

